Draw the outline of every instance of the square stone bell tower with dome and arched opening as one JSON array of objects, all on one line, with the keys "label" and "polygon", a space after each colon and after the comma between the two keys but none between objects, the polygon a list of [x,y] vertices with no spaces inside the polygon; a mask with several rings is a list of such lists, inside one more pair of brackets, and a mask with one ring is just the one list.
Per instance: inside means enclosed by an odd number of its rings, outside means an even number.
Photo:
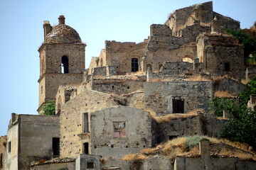
[{"label": "square stone bell tower with dome and arched opening", "polygon": [[44,21],[44,42],[39,48],[40,78],[39,107],[55,99],[58,86],[80,84],[85,70],[85,44],[78,32],[65,25],[65,17],[58,18],[58,26]]}]

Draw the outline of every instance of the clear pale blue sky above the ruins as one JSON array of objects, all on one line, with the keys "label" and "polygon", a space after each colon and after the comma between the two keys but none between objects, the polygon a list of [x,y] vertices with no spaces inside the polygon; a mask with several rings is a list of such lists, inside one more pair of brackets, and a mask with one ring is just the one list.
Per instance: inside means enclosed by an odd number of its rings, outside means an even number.
[{"label": "clear pale blue sky above the ruins", "polygon": [[[37,114],[39,53],[43,21],[58,16],[87,44],[85,67],[105,40],[142,42],[152,23],[164,23],[178,8],[203,0],[0,0],[0,136],[7,134],[11,113]],[[256,0],[213,0],[213,11],[250,28],[256,21]]]}]

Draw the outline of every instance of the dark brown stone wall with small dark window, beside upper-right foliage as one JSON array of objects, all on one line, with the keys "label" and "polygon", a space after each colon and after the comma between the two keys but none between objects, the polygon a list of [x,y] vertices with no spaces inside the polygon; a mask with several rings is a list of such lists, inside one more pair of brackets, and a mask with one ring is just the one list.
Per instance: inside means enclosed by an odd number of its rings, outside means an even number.
[{"label": "dark brown stone wall with small dark window, beside upper-right foliage", "polygon": [[[201,42],[203,40],[203,42]],[[214,76],[225,74],[235,79],[244,79],[243,48],[234,38],[218,35],[200,35],[198,45],[203,45],[203,52],[198,52],[200,62],[205,62],[205,69]]]}]

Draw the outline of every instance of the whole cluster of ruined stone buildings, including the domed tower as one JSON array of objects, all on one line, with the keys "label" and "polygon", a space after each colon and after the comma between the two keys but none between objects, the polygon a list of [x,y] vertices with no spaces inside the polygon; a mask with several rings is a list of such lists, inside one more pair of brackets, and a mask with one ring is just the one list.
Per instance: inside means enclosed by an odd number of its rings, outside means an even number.
[{"label": "whole cluster of ruined stone buildings, including the domed tower", "polygon": [[[214,12],[212,1],[174,11],[143,42],[105,41],[86,70],[86,45],[64,16],[58,20],[44,21],[38,50],[38,113],[55,100],[55,115],[13,113],[0,138],[0,169],[131,169],[126,154],[175,137],[219,137],[228,119],[210,114],[208,101],[215,91],[237,94],[240,80],[255,75],[224,31],[240,30],[240,22]],[[176,118],[156,120],[166,115]],[[209,145],[201,140],[201,158],[156,155],[138,169],[256,169],[237,157],[211,157]]]}]

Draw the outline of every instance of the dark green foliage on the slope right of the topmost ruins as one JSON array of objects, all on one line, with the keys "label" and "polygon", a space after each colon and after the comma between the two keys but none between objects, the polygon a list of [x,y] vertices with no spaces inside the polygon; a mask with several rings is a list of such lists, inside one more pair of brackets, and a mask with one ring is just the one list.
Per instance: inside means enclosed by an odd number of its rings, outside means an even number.
[{"label": "dark green foliage on the slope right of the topmost ruins", "polygon": [[245,62],[247,64],[256,64],[256,40],[251,38],[250,35],[240,31],[226,29],[226,32],[233,35],[242,44],[245,50]]}]

